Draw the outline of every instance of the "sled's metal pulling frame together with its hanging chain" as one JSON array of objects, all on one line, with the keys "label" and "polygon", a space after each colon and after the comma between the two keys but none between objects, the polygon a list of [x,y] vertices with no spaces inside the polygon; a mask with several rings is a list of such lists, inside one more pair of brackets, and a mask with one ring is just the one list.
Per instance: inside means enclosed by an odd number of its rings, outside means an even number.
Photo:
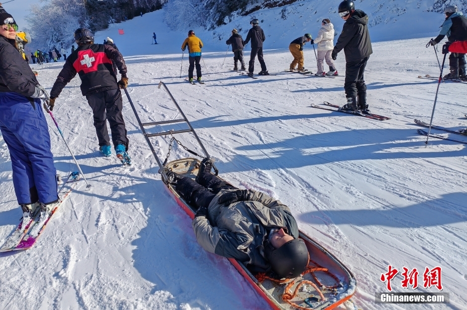
[{"label": "sled's metal pulling frame together with its hanging chain", "polygon": [[[132,99],[130,98],[130,94],[128,93],[127,89],[124,88],[125,90],[125,94],[127,95],[127,98],[128,98],[128,101],[130,102],[130,105],[133,109],[133,113],[135,113],[135,116],[136,116],[136,119],[138,121],[138,124],[140,126],[140,129],[141,131],[143,132],[143,135],[146,139],[146,142],[148,143],[149,145],[149,148],[151,149],[151,152],[153,153],[154,155],[154,158],[156,158],[156,161],[157,161],[157,164],[159,165],[159,173],[162,173],[162,168],[167,164],[167,161],[169,159],[169,156],[170,156],[170,151],[172,149],[172,144],[174,142],[176,142],[177,144],[179,144],[184,150],[186,150],[187,152],[195,155],[195,156],[198,156],[198,157],[201,157],[201,158],[206,158],[206,157],[210,157],[209,156],[209,153],[207,152],[207,150],[204,148],[204,145],[202,144],[201,140],[199,139],[198,135],[196,134],[196,132],[194,131],[193,129],[193,126],[191,126],[190,122],[188,121],[188,119],[186,118],[185,114],[183,113],[182,109],[180,108],[180,106],[178,105],[177,101],[175,100],[174,96],[172,95],[172,93],[169,91],[169,89],[167,88],[167,85],[165,85],[164,82],[159,82],[159,86],[158,88],[160,89],[161,86],[164,87],[164,89],[167,91],[167,93],[169,94],[170,96],[170,99],[172,100],[172,102],[174,103],[175,107],[177,108],[178,110],[178,113],[182,116],[182,118],[179,118],[179,119],[174,119],[174,120],[170,120],[170,121],[159,121],[159,122],[149,122],[149,123],[142,123],[141,122],[141,119],[138,115],[138,112],[136,112],[136,108],[135,108],[135,105],[133,104],[133,101]],[[157,132],[157,133],[148,133],[145,129],[145,127],[149,127],[149,126],[157,126],[157,125],[167,125],[167,124],[175,124],[175,123],[186,123],[188,125],[188,129],[181,129],[181,130],[168,130],[168,131],[162,131],[162,132]],[[203,150],[204,152],[204,156],[202,155],[199,155],[197,154],[195,151],[192,151],[190,149],[188,149],[187,147],[185,147],[179,140],[177,140],[174,135],[175,134],[181,134],[181,133],[186,133],[186,132],[191,132],[193,134],[193,136],[195,137],[196,141],[198,142],[199,146],[201,147],[201,149]],[[151,137],[158,137],[158,136],[167,136],[167,135],[171,135],[172,138],[170,140],[170,143],[169,143],[169,152],[167,153],[167,156],[164,160],[164,162],[161,162],[159,156],[157,156],[157,153],[154,149],[154,146],[151,142],[151,140],[149,138]],[[218,170],[217,168],[213,165],[212,166],[214,171],[215,171],[215,175],[218,174]],[[164,174],[163,174],[164,176]]]}]

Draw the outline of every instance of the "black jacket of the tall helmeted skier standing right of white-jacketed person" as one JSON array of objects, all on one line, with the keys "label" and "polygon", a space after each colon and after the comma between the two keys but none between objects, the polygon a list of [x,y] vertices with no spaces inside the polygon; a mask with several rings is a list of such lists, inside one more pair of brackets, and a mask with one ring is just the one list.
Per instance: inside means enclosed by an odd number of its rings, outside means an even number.
[{"label": "black jacket of the tall helmeted skier standing right of white-jacketed person", "polygon": [[342,49],[346,62],[357,61],[373,53],[368,32],[368,15],[362,10],[355,10],[345,21],[333,53],[337,54]]}]

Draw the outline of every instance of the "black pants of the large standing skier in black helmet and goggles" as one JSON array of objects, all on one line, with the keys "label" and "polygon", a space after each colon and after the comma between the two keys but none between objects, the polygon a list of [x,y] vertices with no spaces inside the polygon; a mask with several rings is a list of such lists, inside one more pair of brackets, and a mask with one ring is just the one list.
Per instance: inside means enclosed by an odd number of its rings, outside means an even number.
[{"label": "black pants of the large standing skier in black helmet and goggles", "polygon": [[367,94],[367,85],[363,79],[368,57],[345,64],[345,97],[352,98]]}]

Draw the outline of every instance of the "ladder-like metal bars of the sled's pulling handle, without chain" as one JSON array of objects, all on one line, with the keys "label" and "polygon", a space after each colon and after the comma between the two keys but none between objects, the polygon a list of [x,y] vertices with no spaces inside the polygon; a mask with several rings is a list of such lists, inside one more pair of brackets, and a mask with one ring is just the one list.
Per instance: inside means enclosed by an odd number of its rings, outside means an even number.
[{"label": "ladder-like metal bars of the sled's pulling handle, without chain", "polygon": [[[204,145],[201,143],[201,140],[199,140],[199,137],[198,135],[196,134],[196,132],[194,131],[193,127],[191,126],[190,122],[188,121],[188,119],[186,118],[185,114],[183,113],[182,109],[180,108],[180,106],[178,105],[177,101],[175,100],[174,96],[172,96],[172,93],[169,91],[169,89],[167,88],[167,86],[165,85],[164,82],[160,82],[159,83],[159,86],[158,88],[160,89],[161,86],[163,86],[165,88],[165,90],[167,91],[167,93],[169,94],[170,98],[172,99],[173,103],[175,104],[175,106],[177,107],[177,110],[178,112],[180,113],[180,115],[183,117],[183,118],[180,118],[180,119],[176,119],[176,120],[172,120],[172,121],[160,121],[160,122],[150,122],[150,123],[142,123],[141,122],[141,119],[138,115],[138,113],[136,112],[136,109],[135,109],[135,105],[133,104],[133,101],[132,99],[130,98],[130,94],[128,94],[128,91],[126,88],[124,88],[125,90],[125,94],[127,95],[127,98],[128,98],[128,101],[130,101],[130,105],[132,106],[132,109],[133,109],[133,113],[135,113],[135,116],[136,116],[136,119],[138,120],[138,124],[140,125],[140,129],[141,131],[143,132],[143,135],[144,135],[144,138],[146,139],[146,142],[148,143],[149,145],[149,148],[151,149],[151,152],[153,153],[154,155],[154,158],[156,158],[157,160],[157,164],[159,165],[159,167],[161,169],[159,169],[159,173],[162,173],[161,170],[163,168],[163,164],[161,162],[161,160],[159,159],[159,157],[157,156],[156,154],[156,151],[154,150],[154,146],[152,145],[151,143],[151,140],[149,139],[150,137],[157,137],[157,136],[165,136],[165,135],[170,135],[170,134],[180,134],[180,133],[184,133],[184,132],[192,132],[194,137],[196,138],[196,140],[198,141],[198,144],[199,146],[201,146],[201,149],[203,150],[204,154],[206,155],[206,157],[210,157],[209,154],[207,153],[206,149],[204,148]],[[154,134],[148,134],[145,130],[145,127],[147,126],[155,126],[155,125],[164,125],[164,124],[173,124],[173,123],[186,123],[189,127],[189,129],[182,129],[182,130],[169,130],[169,131],[164,131],[164,132],[159,132],[159,133],[154,133]],[[214,168],[215,171],[217,171],[217,169]],[[217,174],[217,173],[216,173]]]}]

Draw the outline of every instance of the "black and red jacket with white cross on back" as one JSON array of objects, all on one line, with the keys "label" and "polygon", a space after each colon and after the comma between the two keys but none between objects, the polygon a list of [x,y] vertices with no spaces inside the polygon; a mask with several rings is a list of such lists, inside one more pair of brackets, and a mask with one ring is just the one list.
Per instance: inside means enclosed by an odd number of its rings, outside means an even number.
[{"label": "black and red jacket with white cross on back", "polygon": [[63,88],[76,76],[76,73],[81,79],[81,93],[83,96],[118,89],[112,60],[119,68],[122,78],[126,78],[127,66],[119,51],[103,44],[79,46],[66,59],[65,65],[50,91],[50,97],[58,97]]}]

